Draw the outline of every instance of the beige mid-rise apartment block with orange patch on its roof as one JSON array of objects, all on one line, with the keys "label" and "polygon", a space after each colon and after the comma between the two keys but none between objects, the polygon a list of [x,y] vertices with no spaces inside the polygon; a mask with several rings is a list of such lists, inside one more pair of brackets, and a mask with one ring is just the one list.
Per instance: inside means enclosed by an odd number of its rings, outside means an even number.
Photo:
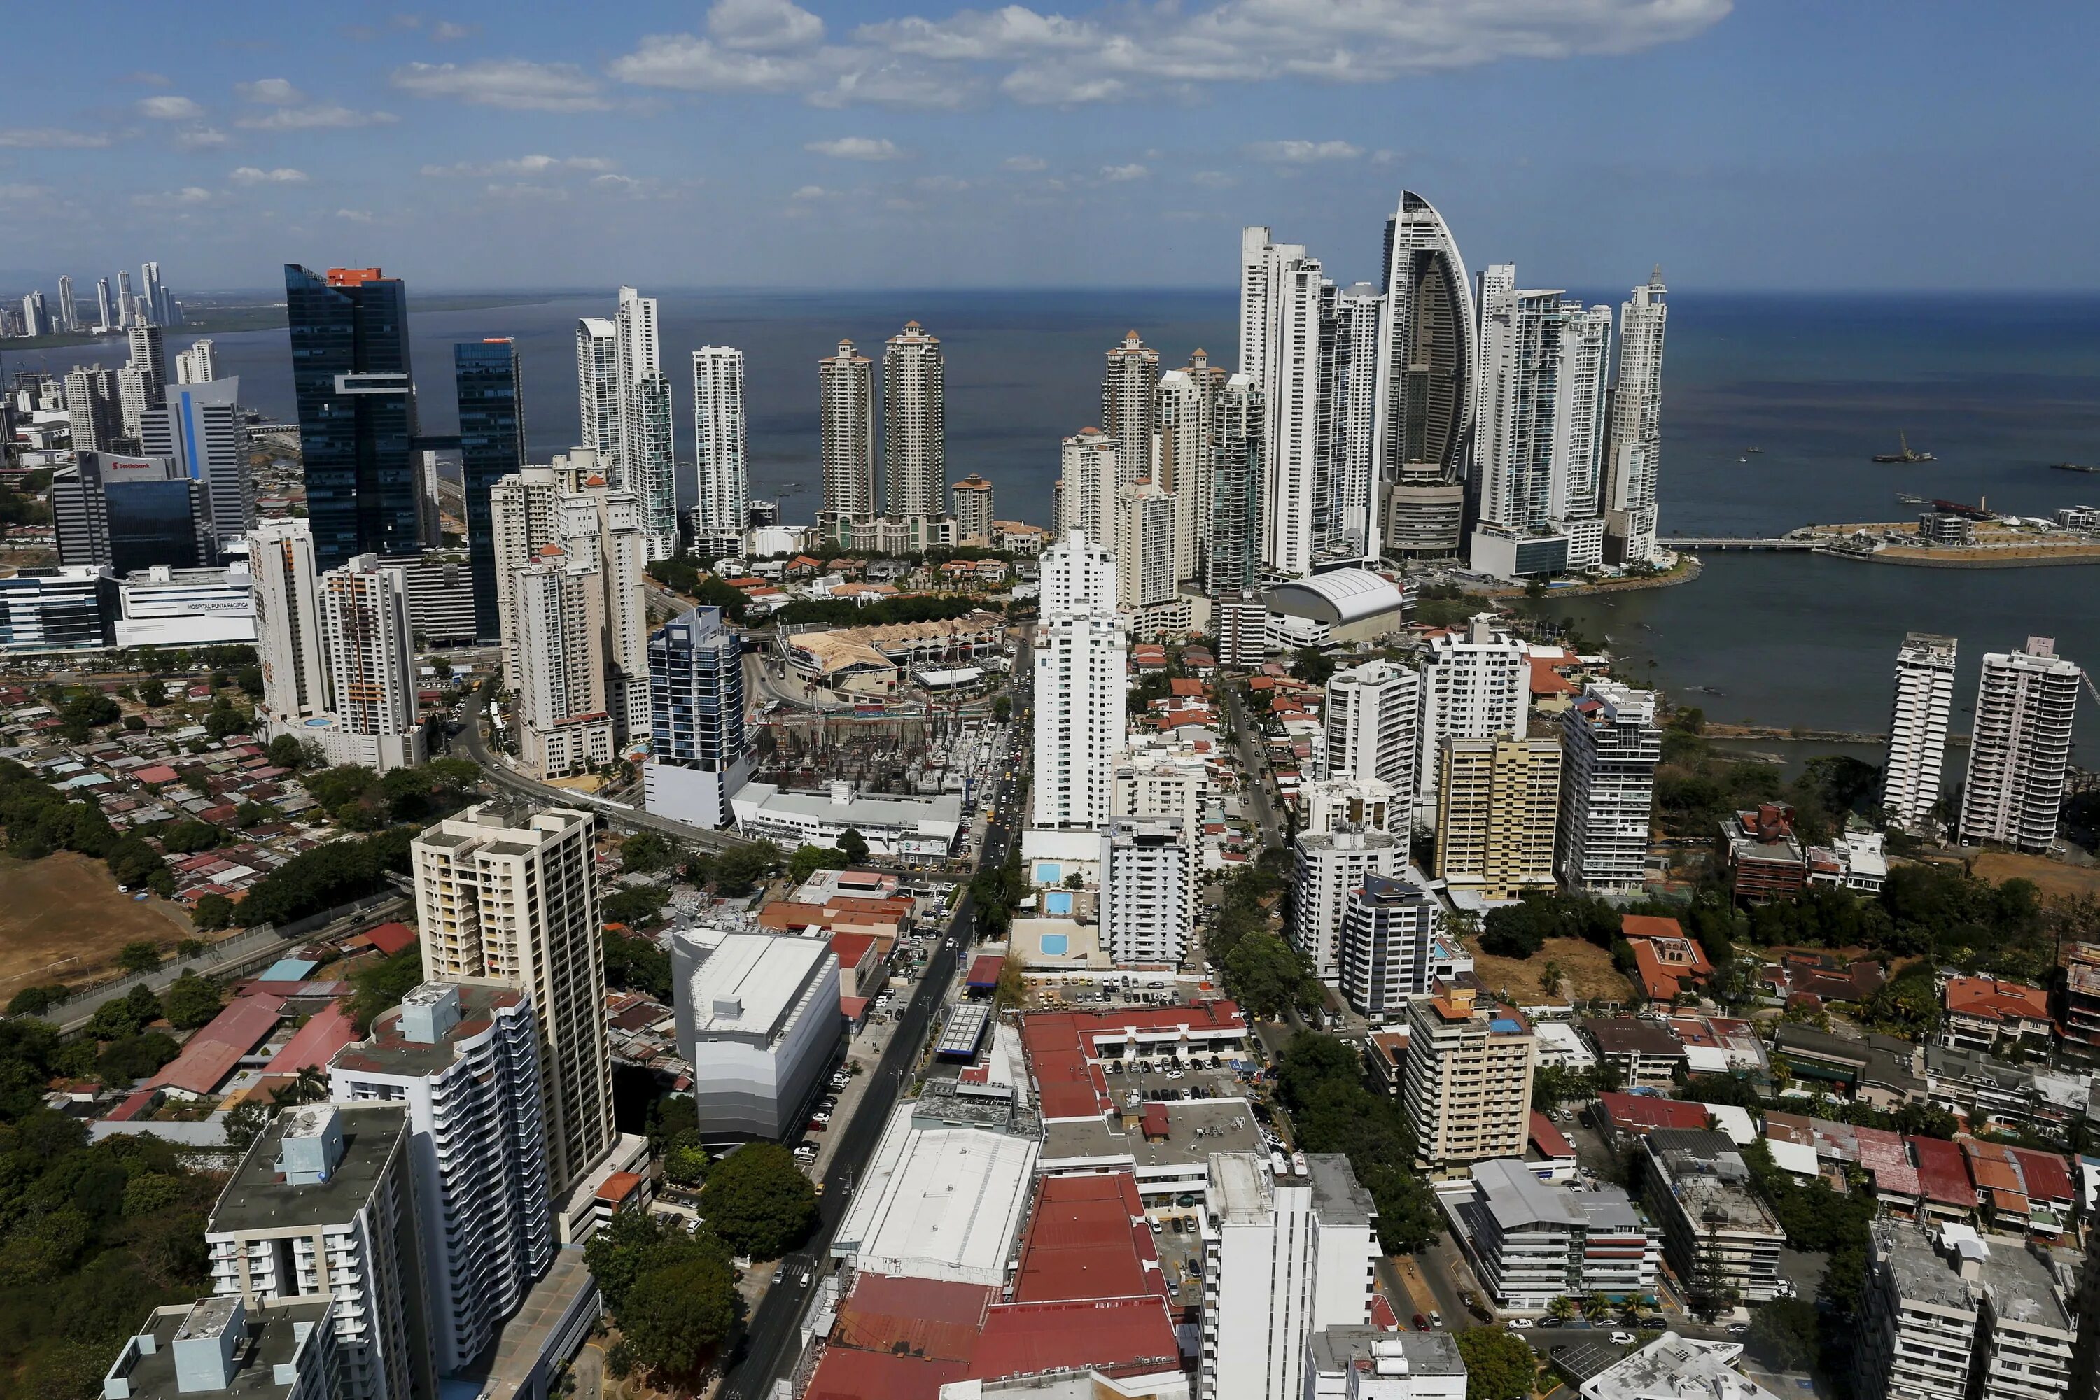
[{"label": "beige mid-rise apartment block with orange patch on its roof", "polygon": [[1525,1154],[1535,1043],[1522,1012],[1466,984],[1441,984],[1407,1003],[1401,1104],[1415,1131],[1415,1167]]}]

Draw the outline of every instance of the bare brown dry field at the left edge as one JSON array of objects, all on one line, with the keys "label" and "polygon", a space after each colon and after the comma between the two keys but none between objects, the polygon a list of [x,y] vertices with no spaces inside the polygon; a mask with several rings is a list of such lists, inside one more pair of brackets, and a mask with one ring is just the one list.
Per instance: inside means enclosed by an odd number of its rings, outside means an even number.
[{"label": "bare brown dry field at the left edge", "polygon": [[189,938],[189,921],[168,900],[118,894],[109,867],[78,852],[0,858],[0,1005],[38,982],[84,982],[139,938]]}]

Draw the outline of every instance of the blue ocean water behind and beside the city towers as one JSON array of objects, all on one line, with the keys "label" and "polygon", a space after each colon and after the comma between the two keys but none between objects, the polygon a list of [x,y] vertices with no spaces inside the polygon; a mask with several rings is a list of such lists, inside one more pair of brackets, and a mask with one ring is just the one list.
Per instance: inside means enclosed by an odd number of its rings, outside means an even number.
[{"label": "blue ocean water behind and beside the city towers", "polygon": [[[1617,302],[1623,292],[1583,292]],[[416,288],[410,285],[414,306]],[[533,455],[565,449],[578,422],[573,327],[611,315],[603,296],[521,296],[472,311],[412,313],[412,355],[430,432],[454,428],[452,344],[512,336],[523,353]],[[1663,365],[1663,533],[1783,533],[1808,523],[1903,521],[1898,493],[2048,514],[2100,504],[2100,296],[1781,296],[1674,292]],[[1098,422],[1102,353],[1136,330],[1166,367],[1193,348],[1237,357],[1237,298],[1220,292],[678,292],[659,294],[678,451],[691,455],[691,376],[701,344],[746,353],[750,493],[811,521],[817,361],[840,338],[880,357],[916,319],[947,359],[947,474],[981,472],[998,514],[1048,523],[1058,441]],[[174,334],[168,353],[193,336]],[[212,336],[220,374],[271,416],[292,413],[284,332]],[[122,361],[120,348],[101,353]],[[50,367],[94,359],[55,351]],[[21,363],[21,361],[10,361]],[[1905,432],[1936,462],[1877,466]],[[1762,451],[1751,453],[1749,447]],[[1712,554],[1678,588],[1548,604],[1609,636],[1630,672],[1720,720],[1882,730],[1905,632],[1961,638],[1966,712],[1984,651],[2054,636],[2100,665],[2100,565],[1938,571],[1798,554]],[[1648,661],[1655,665],[1651,667]],[[1964,714],[1955,718],[1966,728]],[[2085,705],[2081,751],[2100,751]]]}]

